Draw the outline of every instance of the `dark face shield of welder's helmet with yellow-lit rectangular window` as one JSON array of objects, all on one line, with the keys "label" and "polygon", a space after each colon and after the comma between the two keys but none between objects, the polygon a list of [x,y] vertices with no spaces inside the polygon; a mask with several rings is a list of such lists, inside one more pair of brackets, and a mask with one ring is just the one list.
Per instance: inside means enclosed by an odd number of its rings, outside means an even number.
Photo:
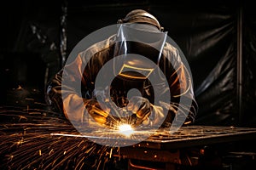
[{"label": "dark face shield of welder's helmet with yellow-lit rectangular window", "polygon": [[115,76],[133,80],[147,79],[159,65],[166,35],[166,32],[148,24],[120,24],[113,57]]}]

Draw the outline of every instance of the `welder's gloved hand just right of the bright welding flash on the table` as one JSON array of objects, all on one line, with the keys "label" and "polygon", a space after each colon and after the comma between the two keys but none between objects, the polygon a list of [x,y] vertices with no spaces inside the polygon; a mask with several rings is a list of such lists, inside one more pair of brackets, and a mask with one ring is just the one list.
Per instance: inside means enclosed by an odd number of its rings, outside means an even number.
[{"label": "welder's gloved hand just right of the bright welding flash on the table", "polygon": [[150,104],[148,99],[140,97],[140,96],[133,96],[129,99],[129,103],[126,106],[127,111],[131,111],[136,116],[131,116],[133,120],[131,120],[131,125],[134,127],[139,126],[143,123],[148,116],[151,114],[153,109],[153,105]]}]

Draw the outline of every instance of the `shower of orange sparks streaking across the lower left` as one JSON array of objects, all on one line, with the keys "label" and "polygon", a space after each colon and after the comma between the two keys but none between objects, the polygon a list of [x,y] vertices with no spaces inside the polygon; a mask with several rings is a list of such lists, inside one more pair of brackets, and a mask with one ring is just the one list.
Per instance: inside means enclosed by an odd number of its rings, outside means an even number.
[{"label": "shower of orange sparks streaking across the lower left", "polygon": [[3,106],[0,120],[0,169],[102,169],[120,159],[119,148],[78,138],[73,125],[45,105]]}]

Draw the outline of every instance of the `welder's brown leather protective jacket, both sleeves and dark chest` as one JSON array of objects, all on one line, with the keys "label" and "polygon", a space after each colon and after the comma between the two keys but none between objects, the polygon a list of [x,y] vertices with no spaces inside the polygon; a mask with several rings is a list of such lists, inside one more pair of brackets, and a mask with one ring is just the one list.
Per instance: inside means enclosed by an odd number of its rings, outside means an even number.
[{"label": "welder's brown leather protective jacket, both sleeves and dark chest", "polygon": [[[73,62],[68,63],[61,71],[55,74],[46,91],[46,100],[49,105],[63,113],[68,119],[84,121],[87,101],[95,97],[96,77],[102,66],[113,59],[114,39],[115,35],[85,49],[79,53],[76,59],[73,59]],[[142,52],[142,55],[145,54]],[[193,92],[192,77],[183,64],[177,48],[166,42],[158,66],[166,76],[168,88],[170,89],[169,91],[162,89],[161,93],[167,92],[171,96],[170,104],[161,105],[168,110],[168,116],[166,116],[163,125],[172,123],[173,120],[177,119],[177,111],[179,111],[179,116],[186,116],[186,121],[183,122],[183,125],[193,123],[198,105]],[[68,80],[67,84],[61,83],[63,78]],[[111,99],[119,107],[125,105],[124,99],[131,88],[137,88],[143,98],[154,103],[154,89],[148,80],[137,81],[115,77],[108,88],[110,88]],[[159,86],[159,88],[161,87]],[[191,100],[191,103],[184,105],[181,103],[182,97],[183,99]],[[73,114],[67,115],[67,112],[73,112]],[[155,118],[159,117],[155,116]]]}]

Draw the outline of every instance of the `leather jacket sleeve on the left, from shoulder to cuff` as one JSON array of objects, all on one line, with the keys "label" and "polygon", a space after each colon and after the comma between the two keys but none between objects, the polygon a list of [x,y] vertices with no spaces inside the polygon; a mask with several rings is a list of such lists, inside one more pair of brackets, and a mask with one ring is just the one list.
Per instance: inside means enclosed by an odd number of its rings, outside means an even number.
[{"label": "leather jacket sleeve on the left, from shoulder to cuff", "polygon": [[[97,72],[110,57],[108,47],[108,42],[102,42],[81,52],[49,82],[46,101],[55,111],[64,114],[68,120],[72,122],[91,120],[90,116],[84,117],[88,115],[84,113],[87,112],[86,105],[92,98]],[[99,48],[102,51],[99,51]],[[90,59],[92,55],[94,57]]]}]

